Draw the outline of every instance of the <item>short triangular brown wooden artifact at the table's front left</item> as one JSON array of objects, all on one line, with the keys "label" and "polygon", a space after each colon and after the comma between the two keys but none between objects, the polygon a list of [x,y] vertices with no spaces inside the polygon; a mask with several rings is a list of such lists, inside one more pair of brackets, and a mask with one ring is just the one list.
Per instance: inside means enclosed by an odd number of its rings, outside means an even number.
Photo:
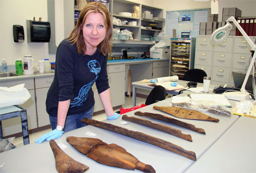
[{"label": "short triangular brown wooden artifact at the table's front left", "polygon": [[50,146],[55,158],[55,166],[58,172],[84,172],[89,166],[75,161],[63,152],[55,140],[50,140]]}]

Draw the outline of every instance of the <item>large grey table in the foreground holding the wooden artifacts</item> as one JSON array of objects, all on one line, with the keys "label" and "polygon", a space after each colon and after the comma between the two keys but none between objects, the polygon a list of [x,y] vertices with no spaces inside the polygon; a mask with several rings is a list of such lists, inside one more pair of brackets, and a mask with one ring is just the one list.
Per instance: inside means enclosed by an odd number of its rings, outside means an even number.
[{"label": "large grey table in the foreground holding the wooden artifacts", "polygon": [[[148,105],[146,107],[140,108],[141,112],[152,112],[152,113],[160,113],[159,111],[153,109],[153,106],[168,106],[172,98],[167,98],[164,101],[157,102],[152,105]],[[136,116],[134,115],[135,111],[131,111],[126,113],[127,116]],[[161,114],[170,116],[166,113],[161,112]],[[171,116],[173,117],[173,116]],[[206,132],[206,135],[196,133],[194,131],[181,128],[175,125],[170,125],[167,122],[163,122],[160,120],[155,120],[147,117],[140,117],[143,119],[150,120],[155,123],[162,123],[165,126],[174,127],[181,130],[184,134],[190,134],[193,142],[186,141],[184,139],[178,138],[176,136],[148,128],[142,125],[137,125],[132,122],[128,122],[127,125],[123,125],[120,122],[122,121],[121,117],[114,120],[104,120],[104,122],[112,123],[114,125],[133,130],[140,131],[142,133],[150,134],[152,136],[161,138],[163,140],[172,142],[183,147],[185,150],[193,151],[196,153],[197,159],[200,159],[208,150],[208,148],[214,144],[220,136],[222,136],[227,129],[229,129],[234,122],[239,119],[238,115],[232,116],[222,116],[215,115],[212,117],[219,118],[220,121],[210,122],[210,121],[201,121],[201,120],[191,120],[191,119],[181,119],[184,122],[192,123],[198,128],[203,128]],[[62,143],[68,147],[63,149],[63,151],[72,157],[74,160],[86,164],[90,167],[88,172],[141,172],[139,170],[126,170],[111,166],[106,166],[95,162],[94,160],[82,155],[78,151],[76,151],[73,146],[71,146],[66,138],[68,136],[76,136],[76,137],[91,137],[85,135],[85,133],[91,132],[96,134],[93,138],[99,138],[103,142],[108,144],[116,143],[124,149],[138,158],[141,162],[150,164],[154,167],[156,172],[183,172],[189,166],[193,165],[194,161],[189,160],[183,156],[175,154],[173,152],[169,152],[160,147],[157,147],[152,144],[148,144],[142,141],[138,141],[136,139],[126,137],[108,130],[99,129],[93,126],[86,126],[80,129],[76,129],[67,133],[64,133],[60,138],[56,139],[57,143]],[[241,141],[243,142],[243,141]],[[219,151],[216,151],[219,152]],[[236,152],[236,151],[233,151]],[[18,157],[17,157],[18,156]],[[1,163],[5,163],[4,167],[0,169],[0,172],[56,172],[55,168],[55,159],[49,145],[49,142],[45,141],[41,144],[31,143],[29,145],[25,145],[22,147],[18,147],[13,150],[9,150],[3,153],[0,153]],[[220,158],[221,159],[221,158]],[[230,158],[236,159],[236,158]],[[208,160],[210,162],[210,160]],[[223,163],[227,160],[223,160]],[[230,160],[229,160],[230,161]],[[211,165],[211,167],[215,167],[218,165]]]}]

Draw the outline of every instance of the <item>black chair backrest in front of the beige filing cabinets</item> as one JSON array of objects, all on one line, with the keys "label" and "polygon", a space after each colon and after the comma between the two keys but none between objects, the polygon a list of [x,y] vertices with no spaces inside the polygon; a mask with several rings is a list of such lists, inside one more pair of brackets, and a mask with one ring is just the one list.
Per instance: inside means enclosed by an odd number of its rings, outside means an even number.
[{"label": "black chair backrest in front of the beige filing cabinets", "polygon": [[205,76],[207,76],[207,74],[204,70],[194,68],[187,70],[187,72],[184,74],[184,77],[181,80],[203,83]]}]

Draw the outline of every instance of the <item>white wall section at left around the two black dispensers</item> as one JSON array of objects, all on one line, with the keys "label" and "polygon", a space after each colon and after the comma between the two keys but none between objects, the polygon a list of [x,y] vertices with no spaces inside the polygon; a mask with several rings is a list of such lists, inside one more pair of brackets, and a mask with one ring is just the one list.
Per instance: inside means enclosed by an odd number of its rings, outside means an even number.
[{"label": "white wall section at left around the two black dispensers", "polygon": [[[48,43],[27,43],[26,20],[36,20],[42,17],[47,21],[46,0],[1,0],[0,1],[0,58],[5,58],[8,65],[14,65],[17,58],[24,55],[32,55],[34,62],[44,58],[55,61],[55,56],[49,56]],[[15,43],[13,41],[13,24],[24,27],[25,41]],[[51,62],[52,62],[51,61]]]}]

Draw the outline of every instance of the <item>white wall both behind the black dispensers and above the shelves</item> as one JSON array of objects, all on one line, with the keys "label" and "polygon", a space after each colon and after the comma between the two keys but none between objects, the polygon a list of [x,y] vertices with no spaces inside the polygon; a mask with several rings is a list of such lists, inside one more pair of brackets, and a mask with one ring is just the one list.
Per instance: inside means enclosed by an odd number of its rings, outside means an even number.
[{"label": "white wall both behind the black dispensers and above the shelves", "polygon": [[[195,2],[193,0],[131,0],[138,4],[154,6],[165,11],[210,8],[209,2]],[[242,10],[242,16],[256,16],[255,0],[219,0],[219,14],[223,7],[238,7]],[[24,55],[32,55],[34,62],[49,58],[55,61],[55,55],[49,55],[48,43],[27,43],[26,20],[47,21],[47,0],[0,0],[0,61],[5,58],[8,65],[14,65],[17,58]],[[20,24],[25,30],[25,41],[15,43],[13,41],[13,24]]]}]

